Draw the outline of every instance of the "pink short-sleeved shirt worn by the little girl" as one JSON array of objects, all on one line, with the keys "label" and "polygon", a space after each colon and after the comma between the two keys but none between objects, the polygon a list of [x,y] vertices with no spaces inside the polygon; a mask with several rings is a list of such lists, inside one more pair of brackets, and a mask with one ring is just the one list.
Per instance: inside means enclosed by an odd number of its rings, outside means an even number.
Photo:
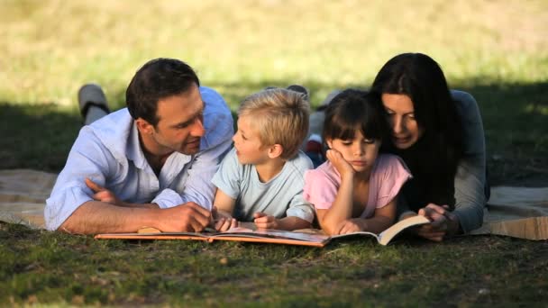
[{"label": "pink short-sleeved shirt worn by the little girl", "polygon": [[[375,209],[387,205],[411,178],[406,164],[396,155],[380,154],[370,175],[370,192],[361,218],[369,218]],[[328,160],[314,170],[305,173],[304,196],[316,209],[331,207],[341,186],[341,175]]]}]

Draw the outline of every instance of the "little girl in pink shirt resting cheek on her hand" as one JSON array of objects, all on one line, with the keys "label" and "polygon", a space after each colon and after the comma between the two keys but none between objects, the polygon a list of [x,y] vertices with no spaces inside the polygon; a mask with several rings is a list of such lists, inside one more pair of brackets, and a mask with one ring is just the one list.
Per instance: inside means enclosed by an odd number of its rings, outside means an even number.
[{"label": "little girl in pink shirt resting cheek on her hand", "polygon": [[325,109],[327,161],[306,171],[305,199],[328,234],[379,233],[396,217],[399,188],[411,177],[394,155],[379,155],[388,133],[379,98],[344,90]]}]

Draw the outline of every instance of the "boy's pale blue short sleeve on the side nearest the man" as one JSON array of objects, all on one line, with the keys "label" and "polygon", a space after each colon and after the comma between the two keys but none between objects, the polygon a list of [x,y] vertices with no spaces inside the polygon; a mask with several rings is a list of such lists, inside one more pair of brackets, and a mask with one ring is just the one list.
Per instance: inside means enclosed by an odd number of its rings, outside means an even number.
[{"label": "boy's pale blue short sleeve on the side nearest the man", "polygon": [[233,199],[237,199],[240,195],[240,184],[242,182],[242,165],[236,157],[236,150],[232,149],[226,157],[224,157],[221,167],[215,173],[211,180],[213,185],[223,191],[225,195]]}]

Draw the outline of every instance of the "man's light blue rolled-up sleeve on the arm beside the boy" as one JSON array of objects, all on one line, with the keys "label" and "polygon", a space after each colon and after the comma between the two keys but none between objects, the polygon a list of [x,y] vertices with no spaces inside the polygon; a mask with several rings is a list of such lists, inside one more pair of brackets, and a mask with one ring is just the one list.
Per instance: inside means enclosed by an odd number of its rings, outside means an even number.
[{"label": "man's light blue rolled-up sleeve on the arm beside the boy", "polygon": [[[197,154],[192,166],[188,168],[187,184],[180,194],[181,202],[174,205],[195,202],[205,209],[213,208],[215,186],[211,179],[215,176],[224,154],[230,149],[232,132],[227,131],[225,138],[224,142]],[[161,194],[157,198],[160,196]]]}]

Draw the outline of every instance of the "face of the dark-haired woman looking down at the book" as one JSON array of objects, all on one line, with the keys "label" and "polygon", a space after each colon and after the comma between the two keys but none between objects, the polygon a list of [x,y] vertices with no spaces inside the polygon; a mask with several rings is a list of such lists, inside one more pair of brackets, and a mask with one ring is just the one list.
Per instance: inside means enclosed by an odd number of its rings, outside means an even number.
[{"label": "face of the dark-haired woman looking down at the book", "polygon": [[392,143],[397,149],[414,145],[425,133],[415,119],[415,107],[407,95],[383,94],[382,104],[387,112],[388,124],[392,130]]}]

